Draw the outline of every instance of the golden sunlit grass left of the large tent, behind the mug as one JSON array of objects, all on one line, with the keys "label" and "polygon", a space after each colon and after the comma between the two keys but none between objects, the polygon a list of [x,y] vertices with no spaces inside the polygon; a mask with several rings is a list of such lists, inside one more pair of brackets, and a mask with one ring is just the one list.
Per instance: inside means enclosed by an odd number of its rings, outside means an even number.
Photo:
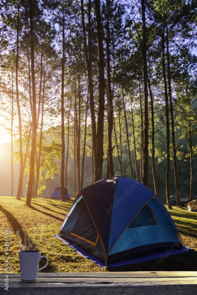
[{"label": "golden sunlit grass left of the large tent, behind the mug", "polygon": [[[4,255],[4,228],[9,227],[9,272],[19,273],[19,250],[37,250],[49,258],[43,272],[103,271],[96,264],[83,258],[53,234],[58,234],[72,201],[32,199],[29,208],[15,197],[0,197],[1,256]],[[45,265],[41,260],[40,267]],[[0,272],[4,272],[1,259]]]}]

